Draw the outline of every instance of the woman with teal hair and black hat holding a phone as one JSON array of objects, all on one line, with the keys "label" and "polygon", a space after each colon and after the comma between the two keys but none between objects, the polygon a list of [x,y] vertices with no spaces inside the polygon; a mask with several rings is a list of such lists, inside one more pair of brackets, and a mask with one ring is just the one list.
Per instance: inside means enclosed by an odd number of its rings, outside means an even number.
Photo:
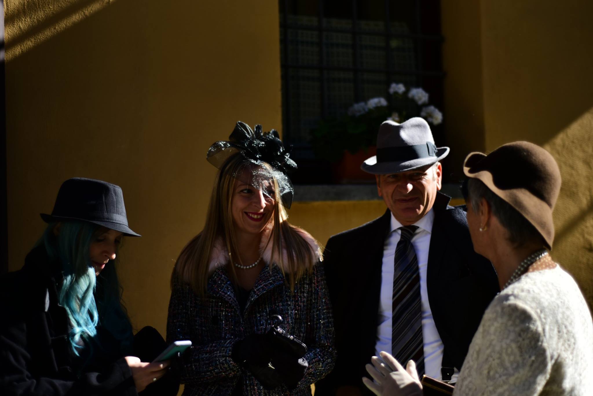
[{"label": "woman with teal hair and black hat holding a phone", "polygon": [[41,216],[49,225],[24,267],[0,278],[0,394],[177,394],[171,375],[157,382],[170,362],[149,363],[164,340],[148,327],[134,337],[121,303],[119,246],[140,236],[122,189],[68,179]]}]

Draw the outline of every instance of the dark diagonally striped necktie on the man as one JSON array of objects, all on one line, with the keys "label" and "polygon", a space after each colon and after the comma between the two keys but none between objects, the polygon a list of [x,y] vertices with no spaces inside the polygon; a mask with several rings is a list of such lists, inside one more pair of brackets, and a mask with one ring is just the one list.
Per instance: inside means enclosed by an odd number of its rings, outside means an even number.
[{"label": "dark diagonally striped necktie on the man", "polygon": [[393,273],[391,305],[391,353],[404,367],[408,360],[416,363],[418,375],[424,373],[422,341],[422,306],[420,305],[420,271],[412,245],[417,226],[400,227]]}]

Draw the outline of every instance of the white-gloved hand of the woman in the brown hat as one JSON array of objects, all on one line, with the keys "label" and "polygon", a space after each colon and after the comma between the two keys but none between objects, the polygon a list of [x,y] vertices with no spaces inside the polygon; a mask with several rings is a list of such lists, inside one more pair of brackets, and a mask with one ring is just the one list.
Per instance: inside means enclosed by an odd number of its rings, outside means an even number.
[{"label": "white-gloved hand of the woman in the brown hat", "polygon": [[382,351],[380,355],[383,360],[373,356],[372,366],[366,365],[366,371],[375,380],[362,378],[367,388],[378,396],[422,396],[422,385],[413,360],[404,369],[391,354]]}]

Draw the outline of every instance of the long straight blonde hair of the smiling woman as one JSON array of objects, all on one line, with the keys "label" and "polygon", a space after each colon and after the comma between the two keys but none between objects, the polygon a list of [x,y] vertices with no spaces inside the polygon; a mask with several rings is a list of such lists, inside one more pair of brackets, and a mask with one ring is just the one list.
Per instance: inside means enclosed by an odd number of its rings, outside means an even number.
[{"label": "long straight blonde hair of the smiling woman", "polygon": [[[239,257],[231,213],[235,185],[233,175],[241,175],[244,169],[249,169],[252,166],[254,164],[249,160],[240,154],[235,154],[220,167],[212,188],[204,229],[193,237],[179,254],[171,277],[171,286],[176,282],[186,283],[198,296],[205,296],[210,258],[215,242],[219,238],[223,240],[229,256]],[[258,166],[270,167],[266,163]],[[299,233],[299,229],[288,223],[288,214],[282,205],[282,199],[280,199],[278,183],[275,179],[270,181],[275,187],[275,199],[273,215],[269,220],[272,232],[269,240],[266,241],[266,246],[272,243],[272,258],[276,258],[275,264],[282,270],[282,274],[291,287],[291,292],[294,292],[295,283],[299,278],[313,270],[317,255],[307,240]],[[282,254],[283,251],[286,252],[286,255]],[[285,262],[285,258],[287,262]],[[228,265],[228,268],[232,282],[237,284],[234,265]]]}]

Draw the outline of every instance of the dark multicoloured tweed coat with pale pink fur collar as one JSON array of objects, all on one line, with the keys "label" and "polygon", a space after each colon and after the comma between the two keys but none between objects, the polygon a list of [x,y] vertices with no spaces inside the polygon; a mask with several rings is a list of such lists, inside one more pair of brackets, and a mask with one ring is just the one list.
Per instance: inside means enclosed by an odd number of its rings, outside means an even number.
[{"label": "dark multicoloured tweed coat with pale pink fur collar", "polygon": [[[311,249],[318,252],[313,238],[303,235]],[[323,266],[315,264],[313,271],[299,279],[291,293],[276,260],[270,257],[269,251],[264,251],[263,259],[269,265],[259,274],[241,315],[225,268],[227,257],[222,244],[218,243],[212,252],[212,273],[204,299],[196,296],[187,284],[175,281],[173,284],[167,341],[190,340],[193,344],[181,368],[181,383],[185,384],[183,394],[228,395],[238,382],[243,382],[243,392],[249,395],[310,395],[310,385],[331,371],[336,357]],[[273,313],[279,313],[283,318],[282,328],[308,348],[304,357],[309,366],[297,389],[291,391],[285,385],[266,391],[253,375],[231,359],[233,344],[252,333],[264,334],[270,328]]]}]

